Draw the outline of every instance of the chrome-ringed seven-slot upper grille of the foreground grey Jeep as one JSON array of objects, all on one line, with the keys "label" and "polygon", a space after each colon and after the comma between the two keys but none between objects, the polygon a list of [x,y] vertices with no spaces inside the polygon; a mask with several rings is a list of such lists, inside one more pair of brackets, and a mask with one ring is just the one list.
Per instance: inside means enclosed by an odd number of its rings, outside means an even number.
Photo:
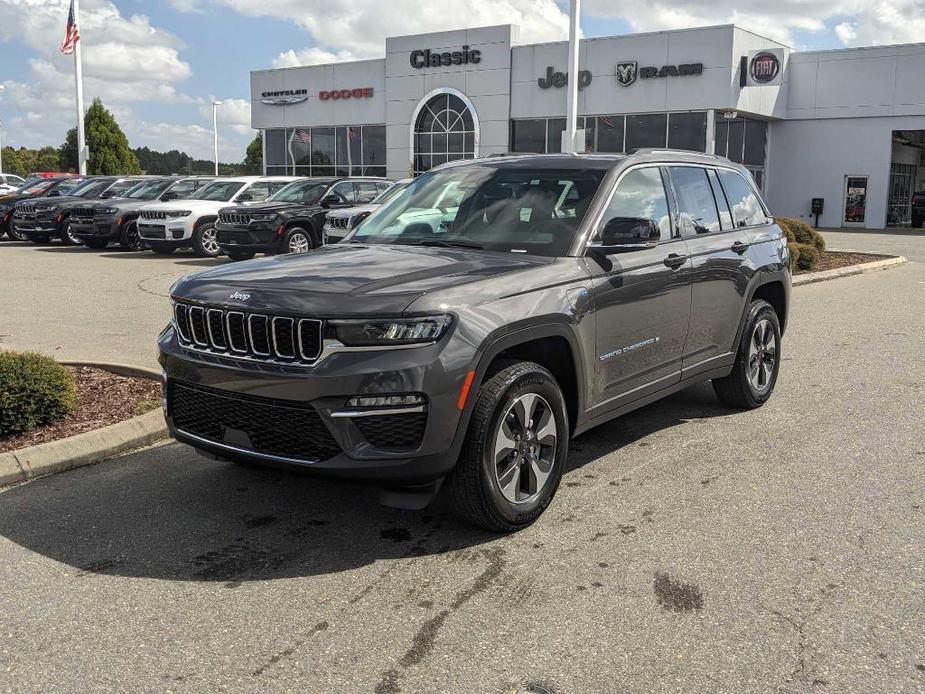
[{"label": "chrome-ringed seven-slot upper grille of the foreground grey Jeep", "polygon": [[180,343],[190,349],[259,361],[313,364],[321,356],[322,323],[178,302]]}]

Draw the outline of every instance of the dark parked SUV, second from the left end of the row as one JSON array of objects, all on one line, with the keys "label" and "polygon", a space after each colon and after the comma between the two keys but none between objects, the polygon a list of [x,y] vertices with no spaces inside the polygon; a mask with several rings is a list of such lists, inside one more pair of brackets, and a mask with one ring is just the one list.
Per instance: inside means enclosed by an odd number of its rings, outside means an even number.
[{"label": "dark parked SUV, second from the left end of the row", "polygon": [[117,198],[144,179],[144,176],[94,176],[64,195],[24,200],[13,209],[10,226],[33,243],[48,243],[56,237],[67,245],[78,245],[81,240],[70,234],[71,210],[88,200]]}]

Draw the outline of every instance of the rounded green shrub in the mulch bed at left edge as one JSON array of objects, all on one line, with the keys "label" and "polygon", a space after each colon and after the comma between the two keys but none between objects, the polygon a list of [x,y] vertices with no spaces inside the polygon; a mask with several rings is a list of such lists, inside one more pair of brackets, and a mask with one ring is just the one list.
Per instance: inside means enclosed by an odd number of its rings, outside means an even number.
[{"label": "rounded green shrub in the mulch bed at left edge", "polygon": [[77,409],[71,372],[51,357],[0,352],[0,438],[51,424]]}]

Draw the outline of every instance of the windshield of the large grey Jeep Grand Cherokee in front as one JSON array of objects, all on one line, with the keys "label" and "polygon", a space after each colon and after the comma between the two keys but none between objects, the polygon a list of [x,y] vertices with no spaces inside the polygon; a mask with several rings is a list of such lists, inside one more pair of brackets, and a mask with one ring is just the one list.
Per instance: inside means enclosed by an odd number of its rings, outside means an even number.
[{"label": "windshield of the large grey Jeep Grand Cherokee in front", "polygon": [[606,172],[471,164],[416,178],[349,243],[565,255]]}]

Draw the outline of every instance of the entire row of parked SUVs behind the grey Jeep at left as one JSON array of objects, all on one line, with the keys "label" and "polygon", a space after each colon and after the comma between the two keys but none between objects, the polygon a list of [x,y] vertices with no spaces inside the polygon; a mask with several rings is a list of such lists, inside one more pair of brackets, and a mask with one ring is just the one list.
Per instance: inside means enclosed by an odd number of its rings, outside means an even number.
[{"label": "entire row of parked SUVs behind the grey Jeep at left", "polygon": [[0,236],[232,260],[304,253],[343,238],[392,187],[373,177],[62,175],[0,195]]}]

